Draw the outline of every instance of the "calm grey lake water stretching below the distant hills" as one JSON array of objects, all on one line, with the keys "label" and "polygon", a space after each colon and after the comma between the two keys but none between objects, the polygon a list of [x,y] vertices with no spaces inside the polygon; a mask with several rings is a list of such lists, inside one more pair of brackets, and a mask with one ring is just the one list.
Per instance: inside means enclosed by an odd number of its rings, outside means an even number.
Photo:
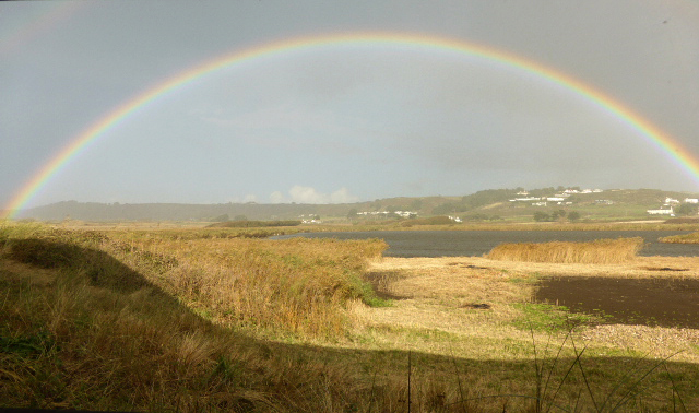
[{"label": "calm grey lake water stretching below the distant hills", "polygon": [[473,257],[487,253],[502,243],[590,241],[602,238],[642,237],[640,256],[694,257],[699,245],[661,244],[657,238],[687,234],[686,231],[380,231],[357,233],[309,233],[277,236],[367,239],[380,238],[389,249],[386,257]]}]

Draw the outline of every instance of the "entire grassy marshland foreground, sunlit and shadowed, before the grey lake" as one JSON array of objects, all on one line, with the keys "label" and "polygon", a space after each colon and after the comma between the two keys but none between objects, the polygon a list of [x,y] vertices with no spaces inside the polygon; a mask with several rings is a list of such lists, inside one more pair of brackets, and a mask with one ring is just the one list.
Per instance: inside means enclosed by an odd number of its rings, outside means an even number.
[{"label": "entire grassy marshland foreground, sunlit and shadowed, before the grey lake", "polygon": [[0,406],[697,411],[698,258],[400,259],[275,231],[3,225]]}]

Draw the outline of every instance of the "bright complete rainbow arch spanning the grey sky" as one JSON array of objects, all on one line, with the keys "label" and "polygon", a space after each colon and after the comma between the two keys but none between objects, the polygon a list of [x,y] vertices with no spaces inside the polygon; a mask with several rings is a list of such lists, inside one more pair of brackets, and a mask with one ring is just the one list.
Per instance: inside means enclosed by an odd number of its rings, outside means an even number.
[{"label": "bright complete rainbow arch spanning the grey sky", "polygon": [[388,47],[407,47],[408,49],[416,49],[418,51],[431,50],[461,54],[521,70],[525,73],[533,74],[549,84],[561,86],[565,90],[573,92],[579,97],[595,104],[606,113],[614,116],[620,122],[626,123],[628,127],[636,130],[639,135],[657,148],[661,153],[665,154],[674,163],[680,165],[680,167],[699,184],[699,160],[679,144],[679,142],[668,134],[663,133],[660,129],[651,125],[651,122],[635,114],[612,97],[567,74],[506,51],[496,50],[490,47],[476,45],[461,39],[450,39],[424,34],[351,33],[297,37],[263,44],[241,51],[234,51],[232,54],[216,57],[203,64],[194,66],[189,70],[180,72],[170,79],[156,84],[111,110],[70,141],[70,143],[64,146],[60,153],[44,165],[40,170],[38,170],[32,179],[22,187],[19,193],[13,197],[4,209],[4,217],[14,217],[14,215],[24,208],[27,202],[47,185],[51,177],[68,164],[70,160],[85,151],[91,143],[95,142],[99,137],[103,137],[107,131],[127,120],[138,110],[144,109],[149,104],[154,103],[157,98],[165,97],[169,92],[185,87],[206,74],[224,68],[241,64],[257,58],[281,55],[284,52],[295,52],[328,46],[377,45]]}]

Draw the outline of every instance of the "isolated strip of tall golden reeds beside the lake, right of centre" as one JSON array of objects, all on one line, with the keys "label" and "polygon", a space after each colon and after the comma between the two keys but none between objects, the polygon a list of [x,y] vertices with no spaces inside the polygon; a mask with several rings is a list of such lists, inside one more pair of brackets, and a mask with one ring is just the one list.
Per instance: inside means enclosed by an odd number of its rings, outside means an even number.
[{"label": "isolated strip of tall golden reeds beside the lake, right of centre", "polygon": [[501,244],[486,257],[500,261],[612,264],[632,260],[642,247],[641,237],[590,243]]}]

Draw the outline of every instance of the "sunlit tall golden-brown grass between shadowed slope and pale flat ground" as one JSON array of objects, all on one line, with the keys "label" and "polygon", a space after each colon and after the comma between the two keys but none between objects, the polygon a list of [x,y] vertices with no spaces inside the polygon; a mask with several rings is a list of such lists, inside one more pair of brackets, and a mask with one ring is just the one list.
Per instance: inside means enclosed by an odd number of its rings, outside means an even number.
[{"label": "sunlit tall golden-brown grass between shadowed slope and pale flat ground", "polygon": [[[173,234],[112,236],[102,243],[132,268],[208,319],[257,333],[343,335],[347,300],[374,299],[362,280],[382,241],[198,238]],[[174,239],[175,238],[175,239]]]}]

